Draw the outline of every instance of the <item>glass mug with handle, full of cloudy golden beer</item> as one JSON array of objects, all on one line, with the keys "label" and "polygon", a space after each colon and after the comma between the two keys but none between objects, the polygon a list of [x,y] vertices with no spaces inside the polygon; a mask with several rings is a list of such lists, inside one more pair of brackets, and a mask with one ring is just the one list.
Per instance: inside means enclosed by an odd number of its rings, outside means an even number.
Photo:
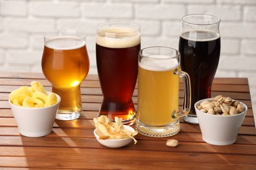
[{"label": "glass mug with handle, full of cloudy golden beer", "polygon": [[[190,110],[190,78],[180,70],[178,50],[153,46],[139,52],[136,127],[148,137],[169,137],[180,131],[179,117]],[[184,82],[184,105],[179,110],[179,80]]]}]

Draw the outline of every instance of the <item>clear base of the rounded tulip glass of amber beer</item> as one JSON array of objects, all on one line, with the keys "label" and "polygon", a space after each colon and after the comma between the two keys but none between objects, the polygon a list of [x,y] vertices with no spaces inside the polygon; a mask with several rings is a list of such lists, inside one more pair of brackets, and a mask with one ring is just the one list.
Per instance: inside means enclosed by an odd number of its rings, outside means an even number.
[{"label": "clear base of the rounded tulip glass of amber beer", "polygon": [[58,110],[56,114],[57,120],[75,120],[80,118],[83,114],[83,109],[78,110],[76,112],[72,112],[69,110]]}]

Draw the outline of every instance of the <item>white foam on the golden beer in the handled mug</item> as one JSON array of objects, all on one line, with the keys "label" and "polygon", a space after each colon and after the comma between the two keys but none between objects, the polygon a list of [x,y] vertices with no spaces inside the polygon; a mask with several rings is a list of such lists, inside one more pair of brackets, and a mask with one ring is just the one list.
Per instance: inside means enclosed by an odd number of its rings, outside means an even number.
[{"label": "white foam on the golden beer in the handled mug", "polygon": [[147,58],[142,58],[139,62],[139,67],[150,71],[169,71],[179,67],[179,63],[176,58],[152,55]]}]

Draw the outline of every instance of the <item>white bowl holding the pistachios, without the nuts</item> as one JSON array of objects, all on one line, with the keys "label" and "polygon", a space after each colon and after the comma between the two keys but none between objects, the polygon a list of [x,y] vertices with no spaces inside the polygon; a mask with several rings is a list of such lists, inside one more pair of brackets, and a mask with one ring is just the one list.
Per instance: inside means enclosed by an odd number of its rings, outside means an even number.
[{"label": "white bowl holding the pistachios, without the nuts", "polygon": [[247,106],[240,101],[244,106],[245,111],[240,114],[221,116],[208,114],[198,110],[198,105],[205,100],[203,99],[195,103],[196,115],[200,129],[202,131],[202,139],[206,143],[215,145],[228,145],[236,142],[238,132],[245,118]]}]

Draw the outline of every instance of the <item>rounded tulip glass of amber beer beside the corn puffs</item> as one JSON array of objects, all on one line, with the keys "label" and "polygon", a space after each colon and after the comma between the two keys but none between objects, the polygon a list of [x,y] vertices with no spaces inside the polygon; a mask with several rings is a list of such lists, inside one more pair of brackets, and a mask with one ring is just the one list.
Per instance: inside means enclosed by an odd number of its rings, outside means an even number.
[{"label": "rounded tulip glass of amber beer beside the corn puffs", "polygon": [[75,120],[82,115],[80,84],[89,72],[85,33],[60,29],[46,33],[41,61],[52,91],[61,97],[58,120]]}]

